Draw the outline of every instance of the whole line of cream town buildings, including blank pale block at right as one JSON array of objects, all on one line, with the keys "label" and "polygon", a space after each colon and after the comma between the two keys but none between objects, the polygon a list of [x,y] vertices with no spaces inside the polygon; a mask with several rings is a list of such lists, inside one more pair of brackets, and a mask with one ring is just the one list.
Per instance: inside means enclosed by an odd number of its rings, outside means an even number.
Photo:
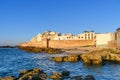
[{"label": "whole line of cream town buildings, including blank pale block at right", "polygon": [[49,40],[93,40],[96,47],[107,47],[108,42],[117,41],[117,45],[120,46],[120,28],[117,29],[115,35],[113,33],[94,33],[94,31],[84,31],[82,34],[73,35],[61,34],[53,31],[45,31],[43,34],[37,34],[31,39],[30,42],[39,42],[44,39]]}]

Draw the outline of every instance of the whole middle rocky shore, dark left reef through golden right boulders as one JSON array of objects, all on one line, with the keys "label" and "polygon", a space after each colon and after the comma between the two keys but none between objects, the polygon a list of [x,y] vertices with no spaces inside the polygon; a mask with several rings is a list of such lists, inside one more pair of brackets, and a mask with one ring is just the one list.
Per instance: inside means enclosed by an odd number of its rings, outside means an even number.
[{"label": "whole middle rocky shore, dark left reef through golden right boulders", "polygon": [[[56,48],[39,48],[39,47],[18,47],[21,50],[34,53],[58,54],[63,53],[67,56],[51,57],[50,60],[55,62],[77,62],[83,61],[85,64],[103,64],[106,61],[120,63],[120,50],[113,49],[56,49]],[[70,53],[71,51],[76,53]]]}]

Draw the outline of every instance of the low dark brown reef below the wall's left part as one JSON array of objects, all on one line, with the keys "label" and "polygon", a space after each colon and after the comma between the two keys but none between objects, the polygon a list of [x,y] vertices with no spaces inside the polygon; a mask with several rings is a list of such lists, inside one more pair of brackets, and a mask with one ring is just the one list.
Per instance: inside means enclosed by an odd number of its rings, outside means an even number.
[{"label": "low dark brown reef below the wall's left part", "polygon": [[34,52],[34,53],[57,54],[62,52],[60,49],[56,49],[56,48],[21,47],[21,46],[18,46],[18,48],[21,50],[25,50],[27,52]]}]

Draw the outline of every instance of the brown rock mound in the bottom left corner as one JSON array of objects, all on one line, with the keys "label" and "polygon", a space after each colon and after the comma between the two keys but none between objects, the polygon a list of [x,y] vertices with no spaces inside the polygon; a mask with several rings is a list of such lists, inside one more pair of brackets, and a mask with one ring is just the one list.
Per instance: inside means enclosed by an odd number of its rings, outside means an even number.
[{"label": "brown rock mound in the bottom left corner", "polygon": [[19,73],[19,77],[8,76],[0,78],[0,80],[45,80],[47,74],[44,73],[40,68],[34,68],[31,70],[22,70]]}]

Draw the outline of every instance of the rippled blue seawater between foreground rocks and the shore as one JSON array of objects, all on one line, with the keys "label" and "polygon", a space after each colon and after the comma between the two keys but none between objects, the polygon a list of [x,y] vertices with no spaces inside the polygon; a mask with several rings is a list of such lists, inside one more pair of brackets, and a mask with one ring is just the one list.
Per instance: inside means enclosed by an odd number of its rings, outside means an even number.
[{"label": "rippled blue seawater between foreground rocks and the shore", "polygon": [[49,55],[45,53],[28,53],[16,48],[0,49],[0,77],[16,76],[19,71],[24,69],[33,69],[36,67],[44,70],[48,75],[56,71],[69,70],[71,76],[94,75],[96,80],[120,80],[120,64],[108,63],[103,66],[88,66],[82,62],[76,63],[55,63],[50,61],[49,57],[64,56]]}]

